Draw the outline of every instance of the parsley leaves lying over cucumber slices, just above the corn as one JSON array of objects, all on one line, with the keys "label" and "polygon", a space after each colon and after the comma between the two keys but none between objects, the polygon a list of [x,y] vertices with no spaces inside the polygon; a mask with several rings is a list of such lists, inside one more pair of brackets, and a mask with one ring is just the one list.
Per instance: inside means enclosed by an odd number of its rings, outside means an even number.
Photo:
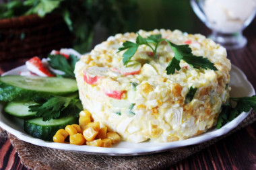
[{"label": "parsley leaves lying over cucumber slices, just above the corn", "polygon": [[73,97],[40,97],[32,98],[36,105],[30,105],[29,112],[36,112],[37,117],[42,117],[43,121],[56,119],[61,116],[73,115],[78,117],[79,112],[83,109],[79,99]]}]

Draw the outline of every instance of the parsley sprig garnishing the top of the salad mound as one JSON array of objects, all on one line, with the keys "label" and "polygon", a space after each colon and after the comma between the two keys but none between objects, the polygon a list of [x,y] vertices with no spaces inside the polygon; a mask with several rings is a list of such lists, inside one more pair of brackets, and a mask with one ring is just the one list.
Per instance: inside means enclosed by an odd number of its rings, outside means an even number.
[{"label": "parsley sprig garnishing the top of the salad mound", "polygon": [[143,38],[137,33],[136,42],[126,41],[123,43],[123,46],[119,48],[118,52],[122,50],[127,50],[123,53],[123,65],[127,66],[129,60],[134,56],[135,52],[139,48],[140,45],[149,46],[154,52],[154,58],[157,58],[157,48],[160,42],[166,42],[170,48],[172,48],[174,52],[174,57],[170,61],[168,67],[166,67],[167,75],[174,74],[175,71],[179,71],[181,69],[180,62],[184,60],[194,69],[211,69],[217,71],[217,68],[214,66],[214,63],[210,62],[208,58],[203,58],[203,56],[195,56],[192,54],[192,50],[189,45],[177,45],[165,38],[162,38],[161,34],[151,35],[148,38]]}]

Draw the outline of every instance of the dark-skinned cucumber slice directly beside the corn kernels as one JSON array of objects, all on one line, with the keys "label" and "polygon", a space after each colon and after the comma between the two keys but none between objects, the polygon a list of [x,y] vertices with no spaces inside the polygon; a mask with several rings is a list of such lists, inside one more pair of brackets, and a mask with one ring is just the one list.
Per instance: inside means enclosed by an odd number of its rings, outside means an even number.
[{"label": "dark-skinned cucumber slice directly beside the corn kernels", "polygon": [[52,119],[45,122],[42,121],[42,118],[34,118],[25,120],[24,131],[34,138],[53,141],[53,136],[57,130],[65,128],[68,124],[77,124],[77,122],[78,118],[75,118],[74,116]]}]

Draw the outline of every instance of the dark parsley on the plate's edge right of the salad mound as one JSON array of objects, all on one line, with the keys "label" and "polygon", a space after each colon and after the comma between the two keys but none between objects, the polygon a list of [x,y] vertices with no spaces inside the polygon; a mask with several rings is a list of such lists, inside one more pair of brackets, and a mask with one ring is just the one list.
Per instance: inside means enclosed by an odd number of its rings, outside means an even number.
[{"label": "dark parsley on the plate's edge right of the salad mound", "polygon": [[256,95],[252,97],[230,97],[231,101],[236,102],[236,106],[232,108],[230,103],[222,105],[222,111],[218,116],[217,128],[221,128],[227,122],[230,122],[243,112],[249,112],[251,108],[256,110]]}]

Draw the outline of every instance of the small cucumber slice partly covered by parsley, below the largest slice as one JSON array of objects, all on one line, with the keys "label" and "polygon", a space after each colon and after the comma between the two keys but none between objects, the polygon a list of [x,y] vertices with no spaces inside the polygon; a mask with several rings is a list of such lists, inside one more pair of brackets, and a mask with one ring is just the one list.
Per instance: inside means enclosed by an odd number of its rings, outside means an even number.
[{"label": "small cucumber slice partly covered by parsley, below the largest slice", "polygon": [[32,101],[11,101],[5,105],[4,111],[18,118],[36,118],[36,112],[28,112],[28,107],[34,104]]}]

